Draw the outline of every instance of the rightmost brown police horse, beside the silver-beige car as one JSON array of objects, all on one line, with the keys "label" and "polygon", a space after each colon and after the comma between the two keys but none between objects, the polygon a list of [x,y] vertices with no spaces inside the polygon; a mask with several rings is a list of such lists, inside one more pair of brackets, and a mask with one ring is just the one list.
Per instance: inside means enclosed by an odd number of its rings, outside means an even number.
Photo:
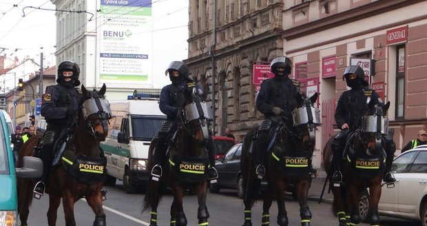
[{"label": "rightmost brown police horse, beside the silver-beige car", "polygon": [[[347,147],[342,164],[343,183],[329,183],[333,192],[333,213],[338,216],[339,225],[357,225],[360,223],[360,196],[369,188],[368,221],[371,225],[379,224],[378,202],[381,197],[382,178],[385,170],[386,153],[383,134],[387,132],[386,112],[390,102],[384,106],[375,105],[373,101],[362,117],[362,126],[354,133],[348,134]],[[333,137],[323,150],[324,169],[329,181],[331,171]]]}]

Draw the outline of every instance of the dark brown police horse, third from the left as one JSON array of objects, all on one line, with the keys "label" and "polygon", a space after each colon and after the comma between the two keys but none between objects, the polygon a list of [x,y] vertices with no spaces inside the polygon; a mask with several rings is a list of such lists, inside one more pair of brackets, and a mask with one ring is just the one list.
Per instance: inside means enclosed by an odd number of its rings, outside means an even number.
[{"label": "dark brown police horse, third from the left", "polygon": [[[295,191],[300,203],[301,225],[310,225],[311,212],[307,203],[307,196],[311,185],[309,165],[315,145],[315,129],[320,125],[320,115],[313,103],[317,93],[310,98],[298,95],[298,107],[293,110],[293,127],[287,127],[279,119],[277,127],[272,129],[269,147],[266,154],[267,192],[264,193],[262,207],[262,225],[269,225],[269,209],[273,196],[277,198],[278,220],[280,226],[288,225],[289,220],[284,204],[285,192],[290,183],[294,183]],[[244,189],[244,224],[251,226],[251,207],[254,197],[258,194],[260,180],[256,179],[255,165],[252,159],[252,143],[254,133],[258,128],[249,131],[242,144],[242,158],[240,160],[243,172]]]}]

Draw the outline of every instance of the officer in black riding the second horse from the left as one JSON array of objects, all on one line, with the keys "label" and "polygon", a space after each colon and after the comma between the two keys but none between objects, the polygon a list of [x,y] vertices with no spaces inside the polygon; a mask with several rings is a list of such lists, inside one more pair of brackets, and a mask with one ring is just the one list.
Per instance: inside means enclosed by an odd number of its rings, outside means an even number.
[{"label": "officer in black riding the second horse from the left", "polygon": [[[169,68],[167,68],[165,74],[169,74],[169,79],[171,84],[163,87],[160,92],[160,110],[166,114],[167,121],[163,123],[160,132],[158,132],[158,140],[156,143],[156,152],[154,152],[154,167],[152,169],[152,176],[155,181],[158,181],[158,178],[163,173],[161,165],[165,163],[165,156],[167,151],[167,137],[169,134],[173,134],[177,129],[178,123],[178,111],[185,107],[187,100],[191,99],[191,92],[193,88],[196,88],[197,94],[200,96],[202,90],[198,85],[192,81],[188,75],[189,70],[187,65],[182,61],[173,61],[170,63]],[[200,97],[201,99],[201,97]],[[215,153],[213,147],[212,137],[209,136],[207,141],[207,150],[209,154],[209,164],[208,169],[209,180],[214,180],[218,178],[218,172],[215,169]]]}]

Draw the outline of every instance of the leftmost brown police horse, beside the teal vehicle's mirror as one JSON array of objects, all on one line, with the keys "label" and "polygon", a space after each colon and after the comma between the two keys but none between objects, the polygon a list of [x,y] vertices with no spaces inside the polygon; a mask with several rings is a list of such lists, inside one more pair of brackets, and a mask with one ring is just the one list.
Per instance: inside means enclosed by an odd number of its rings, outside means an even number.
[{"label": "leftmost brown police horse, beside the teal vehicle's mirror", "polygon": [[[87,91],[82,85],[83,104],[79,107],[79,119],[72,130],[58,166],[52,167],[46,179],[49,194],[48,225],[56,225],[57,209],[63,201],[65,223],[76,225],[74,203],[85,198],[95,213],[93,225],[104,226],[105,213],[102,206],[101,188],[105,176],[105,157],[99,143],[105,141],[108,120],[111,119],[110,104],[105,99],[105,84],[97,92]],[[34,146],[41,136],[32,136],[21,148],[19,163],[23,156],[32,156]],[[20,179],[19,214],[21,226],[27,225],[29,206],[32,201],[34,180]]]}]

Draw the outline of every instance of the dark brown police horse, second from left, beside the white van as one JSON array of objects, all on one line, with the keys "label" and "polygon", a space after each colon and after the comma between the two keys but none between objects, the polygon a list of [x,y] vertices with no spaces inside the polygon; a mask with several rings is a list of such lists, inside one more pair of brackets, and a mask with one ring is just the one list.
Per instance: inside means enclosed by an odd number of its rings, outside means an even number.
[{"label": "dark brown police horse, second from left, beside the white van", "polygon": [[[183,210],[183,198],[187,188],[191,188],[198,197],[198,224],[207,225],[209,212],[206,206],[207,167],[209,161],[206,143],[209,138],[208,123],[211,114],[206,103],[194,98],[178,113],[178,130],[169,143],[168,161],[163,164],[160,181],[149,179],[145,192],[143,212],[151,208],[150,226],[157,225],[157,207],[164,188],[170,187],[174,194],[171,204],[171,226],[187,225]],[[200,112],[203,115],[200,116]],[[153,167],[153,154],[156,152],[157,138],[149,146],[149,169]]]}]

